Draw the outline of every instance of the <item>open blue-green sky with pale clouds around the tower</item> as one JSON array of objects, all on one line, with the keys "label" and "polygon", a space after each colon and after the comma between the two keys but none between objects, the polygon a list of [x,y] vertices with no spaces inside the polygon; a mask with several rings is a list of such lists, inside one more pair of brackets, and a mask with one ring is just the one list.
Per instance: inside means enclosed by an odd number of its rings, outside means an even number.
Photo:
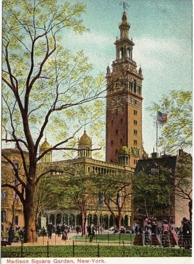
[{"label": "open blue-green sky with pale clouds around the tower", "polygon": [[[78,2],[71,0],[72,3]],[[65,34],[64,46],[83,48],[94,72],[106,73],[115,60],[116,37],[123,8],[120,0],[82,0],[86,12],[83,24],[90,31]],[[131,24],[133,60],[143,71],[143,144],[147,153],[156,147],[156,119],[148,110],[170,91],[192,90],[192,0],[125,0]],[[160,129],[159,129],[160,130]],[[105,132],[105,131],[104,131]],[[160,131],[159,131],[160,135]],[[90,135],[92,136],[92,135]],[[159,148],[158,152],[163,149]]]}]

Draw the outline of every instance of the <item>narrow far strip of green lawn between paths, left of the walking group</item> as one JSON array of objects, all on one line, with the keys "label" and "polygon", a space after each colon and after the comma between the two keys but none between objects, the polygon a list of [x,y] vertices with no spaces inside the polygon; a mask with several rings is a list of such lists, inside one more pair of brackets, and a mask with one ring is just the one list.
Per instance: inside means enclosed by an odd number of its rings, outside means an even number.
[{"label": "narrow far strip of green lawn between paths, left of the walking group", "polygon": [[[129,234],[101,234],[101,235],[95,235],[93,238],[93,242],[97,243],[133,243],[135,238],[135,235],[129,235]],[[88,235],[86,236],[73,236],[70,238],[74,241],[90,241],[90,238]]]}]

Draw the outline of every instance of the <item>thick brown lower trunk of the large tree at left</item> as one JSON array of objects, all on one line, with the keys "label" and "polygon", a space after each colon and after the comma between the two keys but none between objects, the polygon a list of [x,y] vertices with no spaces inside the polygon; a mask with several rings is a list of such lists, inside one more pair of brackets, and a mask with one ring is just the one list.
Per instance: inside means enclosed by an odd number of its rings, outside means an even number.
[{"label": "thick brown lower trunk of the large tree at left", "polygon": [[35,185],[31,183],[25,192],[24,207],[24,242],[36,241],[35,213],[34,213]]}]

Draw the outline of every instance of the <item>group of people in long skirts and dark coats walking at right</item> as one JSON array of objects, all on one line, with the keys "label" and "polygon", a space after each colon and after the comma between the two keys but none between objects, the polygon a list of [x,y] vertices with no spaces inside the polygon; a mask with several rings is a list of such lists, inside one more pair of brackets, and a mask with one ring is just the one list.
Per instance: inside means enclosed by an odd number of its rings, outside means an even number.
[{"label": "group of people in long skirts and dark coats walking at right", "polygon": [[142,230],[140,222],[136,221],[134,245],[162,245],[164,247],[179,245],[187,249],[192,246],[192,224],[186,217],[183,217],[181,221],[179,237],[173,220],[168,223],[164,219],[162,230],[158,228],[156,218],[146,218],[145,221],[147,222],[145,231]]}]

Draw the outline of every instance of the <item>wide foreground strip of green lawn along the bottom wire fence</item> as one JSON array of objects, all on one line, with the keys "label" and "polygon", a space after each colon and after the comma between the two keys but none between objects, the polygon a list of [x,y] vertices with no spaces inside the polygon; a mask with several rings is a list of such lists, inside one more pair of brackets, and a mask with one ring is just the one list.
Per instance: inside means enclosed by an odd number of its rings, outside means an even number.
[{"label": "wide foreground strip of green lawn along the bottom wire fence", "polygon": [[[23,257],[47,257],[47,246],[24,246]],[[49,246],[49,257],[191,257],[191,250],[146,246],[73,245]],[[1,258],[21,257],[21,247],[1,247]]]}]

